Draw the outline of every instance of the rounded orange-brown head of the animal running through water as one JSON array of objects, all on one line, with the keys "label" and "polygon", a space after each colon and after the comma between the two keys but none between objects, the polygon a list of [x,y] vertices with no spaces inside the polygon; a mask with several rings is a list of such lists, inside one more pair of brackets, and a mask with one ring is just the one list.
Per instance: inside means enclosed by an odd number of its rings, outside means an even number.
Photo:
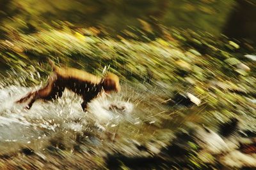
[{"label": "rounded orange-brown head of the animal running through water", "polygon": [[108,73],[103,79],[102,87],[107,93],[111,91],[119,92],[120,85],[118,76],[113,73]]}]

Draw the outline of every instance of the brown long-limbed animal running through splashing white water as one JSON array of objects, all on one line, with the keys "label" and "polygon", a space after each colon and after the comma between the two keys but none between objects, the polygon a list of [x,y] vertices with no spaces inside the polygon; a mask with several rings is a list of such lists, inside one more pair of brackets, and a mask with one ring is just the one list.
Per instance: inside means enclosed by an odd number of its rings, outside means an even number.
[{"label": "brown long-limbed animal running through splashing white water", "polygon": [[17,103],[24,103],[31,99],[28,106],[26,106],[29,109],[36,99],[56,99],[61,97],[64,89],[67,88],[83,97],[81,106],[86,111],[87,103],[99,96],[100,92],[120,91],[119,78],[113,73],[107,74],[104,78],[99,78],[79,69],[57,67],[52,60],[49,60],[49,63],[53,68],[53,73],[47,85],[35,92],[29,92],[25,97],[19,99]]}]

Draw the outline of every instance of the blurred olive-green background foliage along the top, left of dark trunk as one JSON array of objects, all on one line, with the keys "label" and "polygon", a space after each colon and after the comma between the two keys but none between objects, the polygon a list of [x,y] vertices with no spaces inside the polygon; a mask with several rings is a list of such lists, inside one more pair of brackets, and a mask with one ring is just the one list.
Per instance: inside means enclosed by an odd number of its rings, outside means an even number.
[{"label": "blurred olive-green background foliage along the top, left of dark trunk", "polygon": [[111,34],[123,31],[127,26],[138,27],[141,24],[138,18],[152,24],[156,19],[168,27],[220,34],[228,14],[236,4],[234,0],[45,0],[44,3],[33,0],[1,0],[0,3],[2,30],[15,27],[24,32],[33,32],[47,28],[47,25],[58,27],[55,22],[65,20],[76,27],[104,27]]}]

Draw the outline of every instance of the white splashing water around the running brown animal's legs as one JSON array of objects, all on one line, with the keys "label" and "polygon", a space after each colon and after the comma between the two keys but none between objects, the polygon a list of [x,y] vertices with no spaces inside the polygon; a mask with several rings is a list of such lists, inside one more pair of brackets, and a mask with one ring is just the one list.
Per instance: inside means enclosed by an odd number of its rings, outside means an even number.
[{"label": "white splashing water around the running brown animal's legs", "polygon": [[83,132],[90,126],[105,130],[122,121],[132,119],[133,104],[118,95],[100,96],[81,108],[82,99],[65,90],[63,97],[55,101],[38,100],[30,110],[15,101],[31,89],[8,86],[0,90],[0,149],[18,148],[42,141],[58,132]]}]

